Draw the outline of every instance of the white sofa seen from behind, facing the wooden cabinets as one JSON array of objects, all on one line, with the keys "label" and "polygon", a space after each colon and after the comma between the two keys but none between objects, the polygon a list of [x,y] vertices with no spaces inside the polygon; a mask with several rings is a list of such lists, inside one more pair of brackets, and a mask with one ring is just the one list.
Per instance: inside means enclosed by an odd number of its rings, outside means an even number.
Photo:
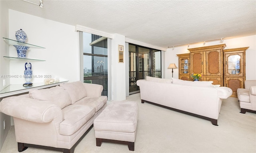
[{"label": "white sofa seen from behind, facing the wooden cabinets", "polygon": [[212,85],[212,81],[146,77],[136,83],[140,87],[142,103],[146,101],[204,118],[215,126],[218,126],[222,99],[232,95],[230,88]]}]

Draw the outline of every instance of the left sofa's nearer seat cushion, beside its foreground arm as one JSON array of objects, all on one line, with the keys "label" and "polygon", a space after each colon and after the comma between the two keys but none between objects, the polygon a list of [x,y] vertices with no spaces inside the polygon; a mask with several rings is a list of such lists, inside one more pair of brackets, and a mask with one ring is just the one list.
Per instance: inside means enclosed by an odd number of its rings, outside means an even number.
[{"label": "left sofa's nearer seat cushion, beside its foreground arm", "polygon": [[83,105],[69,105],[62,109],[64,121],[60,123],[60,134],[72,135],[95,114],[95,108]]}]

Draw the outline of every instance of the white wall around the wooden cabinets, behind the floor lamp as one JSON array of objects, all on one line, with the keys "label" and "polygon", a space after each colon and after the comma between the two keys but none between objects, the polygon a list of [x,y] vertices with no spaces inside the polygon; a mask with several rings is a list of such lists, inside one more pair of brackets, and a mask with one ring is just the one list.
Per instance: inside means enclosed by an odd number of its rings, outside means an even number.
[{"label": "white wall around the wooden cabinets, behind the floor lamp", "polygon": [[[239,37],[234,39],[224,39],[226,44],[225,49],[249,47],[246,50],[246,80],[256,80],[256,35],[251,35],[247,37]],[[189,46],[189,48],[204,47],[211,45],[222,44],[220,41],[198,43]],[[165,53],[165,78],[172,78],[172,69],[167,69],[170,63],[175,63],[178,67],[178,56],[177,54],[189,53],[188,46],[175,47],[167,49]],[[178,78],[178,69],[173,69],[173,77]]]}]

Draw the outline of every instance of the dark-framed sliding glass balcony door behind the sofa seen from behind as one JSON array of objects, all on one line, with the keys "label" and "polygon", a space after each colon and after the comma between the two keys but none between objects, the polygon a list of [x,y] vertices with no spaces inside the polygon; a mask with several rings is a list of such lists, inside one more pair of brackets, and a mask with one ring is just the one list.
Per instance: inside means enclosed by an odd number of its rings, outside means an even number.
[{"label": "dark-framed sliding glass balcony door behind the sofa seen from behind", "polygon": [[129,94],[139,92],[136,81],[146,76],[162,78],[161,51],[129,43]]}]

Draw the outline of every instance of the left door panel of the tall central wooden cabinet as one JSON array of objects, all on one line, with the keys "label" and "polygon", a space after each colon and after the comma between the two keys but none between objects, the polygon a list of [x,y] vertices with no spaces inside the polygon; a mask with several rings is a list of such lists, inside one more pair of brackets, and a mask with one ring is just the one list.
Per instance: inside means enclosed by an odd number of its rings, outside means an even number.
[{"label": "left door panel of the tall central wooden cabinet", "polygon": [[195,73],[202,74],[203,73],[203,69],[204,69],[203,57],[204,57],[203,52],[191,53],[190,59],[191,59],[191,73],[192,74],[195,74]]}]

